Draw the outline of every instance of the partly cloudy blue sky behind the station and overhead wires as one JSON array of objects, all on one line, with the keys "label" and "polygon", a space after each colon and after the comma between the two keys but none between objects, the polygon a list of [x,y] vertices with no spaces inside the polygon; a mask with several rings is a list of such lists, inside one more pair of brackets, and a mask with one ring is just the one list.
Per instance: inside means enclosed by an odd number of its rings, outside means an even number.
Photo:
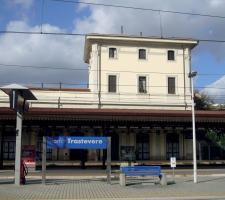
[{"label": "partly cloudy blue sky behind the station and overhead wires", "polygon": [[[86,2],[225,16],[224,0],[85,0]],[[84,1],[84,2],[85,2]],[[0,0],[0,31],[160,36],[158,12],[74,4],[54,0]],[[161,12],[163,37],[225,40],[225,18]],[[86,87],[84,37],[0,34],[0,85]],[[50,70],[11,65],[74,68]],[[200,42],[192,51],[195,86],[225,102],[225,43]]]}]

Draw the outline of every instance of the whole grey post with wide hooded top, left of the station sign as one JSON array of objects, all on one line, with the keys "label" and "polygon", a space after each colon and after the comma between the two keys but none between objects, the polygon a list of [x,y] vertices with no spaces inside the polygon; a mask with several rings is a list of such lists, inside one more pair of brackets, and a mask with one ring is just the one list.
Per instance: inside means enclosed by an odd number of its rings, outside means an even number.
[{"label": "whole grey post with wide hooded top, left of the station sign", "polygon": [[27,100],[37,98],[28,88],[18,84],[6,85],[0,89],[9,95],[10,108],[16,112],[15,184],[20,185],[23,114],[29,109]]}]

